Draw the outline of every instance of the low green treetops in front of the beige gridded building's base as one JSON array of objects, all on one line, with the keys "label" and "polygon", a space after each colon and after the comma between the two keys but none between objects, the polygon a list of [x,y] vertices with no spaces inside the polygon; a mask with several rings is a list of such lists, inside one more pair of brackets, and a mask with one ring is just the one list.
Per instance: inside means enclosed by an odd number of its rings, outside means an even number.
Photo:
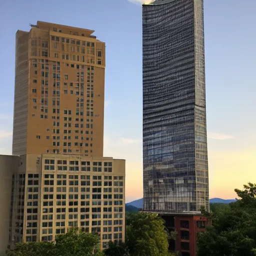
[{"label": "low green treetops in front of the beige gridded building's base", "polygon": [[[98,235],[71,229],[52,242],[17,243],[6,256],[102,256]],[[93,254],[94,252],[94,254]]]}]

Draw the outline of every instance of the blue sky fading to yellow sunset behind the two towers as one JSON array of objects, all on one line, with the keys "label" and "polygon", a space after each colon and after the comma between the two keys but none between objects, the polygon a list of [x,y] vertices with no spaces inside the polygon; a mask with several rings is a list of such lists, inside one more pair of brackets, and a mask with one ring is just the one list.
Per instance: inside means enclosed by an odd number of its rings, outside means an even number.
[{"label": "blue sky fading to yellow sunset behind the two towers", "polygon": [[[11,154],[15,32],[37,20],[106,42],[104,156],[126,159],[126,202],[142,197],[142,0],[0,0],[0,154]],[[204,0],[210,198],[256,183],[256,1]]]}]

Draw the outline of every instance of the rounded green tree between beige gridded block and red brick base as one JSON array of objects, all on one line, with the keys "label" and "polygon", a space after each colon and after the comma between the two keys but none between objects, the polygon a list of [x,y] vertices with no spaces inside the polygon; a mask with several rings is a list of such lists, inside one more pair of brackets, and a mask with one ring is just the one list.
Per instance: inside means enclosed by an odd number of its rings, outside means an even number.
[{"label": "rounded green tree between beige gridded block and red brick base", "polygon": [[168,234],[164,230],[164,221],[156,214],[127,214],[125,232],[125,244],[111,244],[105,250],[106,256],[169,255]]}]

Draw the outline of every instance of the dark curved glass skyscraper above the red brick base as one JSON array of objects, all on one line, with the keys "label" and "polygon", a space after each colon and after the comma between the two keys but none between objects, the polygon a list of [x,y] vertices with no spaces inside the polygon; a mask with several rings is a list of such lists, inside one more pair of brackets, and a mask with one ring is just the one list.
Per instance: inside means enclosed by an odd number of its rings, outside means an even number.
[{"label": "dark curved glass skyscraper above the red brick base", "polygon": [[143,209],[208,209],[203,0],[142,6]]}]

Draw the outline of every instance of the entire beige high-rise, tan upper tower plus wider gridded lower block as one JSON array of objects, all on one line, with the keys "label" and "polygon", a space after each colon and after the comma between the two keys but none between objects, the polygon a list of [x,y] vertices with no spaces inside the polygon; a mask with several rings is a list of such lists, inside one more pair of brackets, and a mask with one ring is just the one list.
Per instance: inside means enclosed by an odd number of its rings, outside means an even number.
[{"label": "entire beige high-rise, tan upper tower plus wider gridded lower block", "polygon": [[[0,253],[70,227],[124,239],[125,160],[103,157],[105,44],[37,21],[16,32],[12,156],[0,156]],[[9,212],[9,222],[8,219]]]}]

